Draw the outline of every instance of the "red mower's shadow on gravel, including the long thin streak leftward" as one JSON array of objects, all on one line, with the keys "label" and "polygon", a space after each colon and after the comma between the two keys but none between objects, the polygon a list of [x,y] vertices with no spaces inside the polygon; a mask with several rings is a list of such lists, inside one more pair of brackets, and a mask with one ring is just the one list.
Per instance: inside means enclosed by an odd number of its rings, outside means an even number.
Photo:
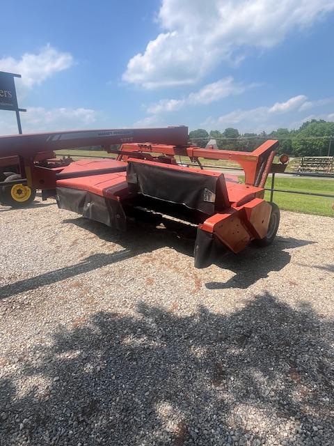
[{"label": "red mower's shadow on gravel, including the long thin streak leftward", "polygon": [[[164,222],[164,220],[163,220]],[[102,240],[117,243],[124,249],[113,254],[93,254],[86,259],[72,266],[65,266],[58,270],[45,272],[44,274],[20,280],[13,284],[0,287],[0,300],[8,298],[17,293],[24,293],[29,290],[38,289],[40,286],[59,282],[70,277],[111,265],[125,259],[152,252],[161,247],[170,247],[181,254],[193,256],[193,245],[196,238],[196,227],[187,224],[173,222],[173,226],[168,229],[164,226],[145,226],[143,223],[133,224],[126,233],[112,231],[108,226],[88,220],[82,217],[68,219],[64,224],[75,224],[83,229],[94,233]],[[167,222],[166,222],[167,224]],[[247,247],[238,255],[223,254],[221,261],[216,265],[220,268],[232,270],[235,276],[228,282],[208,282],[205,286],[208,289],[240,288],[246,289],[257,280],[267,277],[271,271],[279,271],[284,268],[291,259],[289,252],[285,249],[301,247],[315,243],[308,240],[298,240],[296,238],[277,237],[273,245],[267,248]]]}]

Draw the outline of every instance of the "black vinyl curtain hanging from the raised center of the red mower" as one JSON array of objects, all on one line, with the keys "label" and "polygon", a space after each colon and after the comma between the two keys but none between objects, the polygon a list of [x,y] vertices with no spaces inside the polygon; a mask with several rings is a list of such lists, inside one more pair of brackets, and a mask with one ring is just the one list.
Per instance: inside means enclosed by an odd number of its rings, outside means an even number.
[{"label": "black vinyl curtain hanging from the raised center of the red mower", "polygon": [[223,197],[226,188],[223,174],[212,176],[190,169],[168,169],[131,161],[127,167],[127,183],[130,193],[184,204],[188,208],[200,210],[208,215],[216,211],[217,194],[220,203],[226,206]]}]

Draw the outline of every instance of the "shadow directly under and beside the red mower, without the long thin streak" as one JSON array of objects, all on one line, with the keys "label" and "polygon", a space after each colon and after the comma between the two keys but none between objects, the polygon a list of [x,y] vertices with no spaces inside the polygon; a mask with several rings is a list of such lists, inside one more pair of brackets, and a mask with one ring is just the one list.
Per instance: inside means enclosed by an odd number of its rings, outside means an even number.
[{"label": "shadow directly under and beside the red mower, without the long thin streak", "polygon": [[[136,246],[138,254],[143,252],[151,252],[154,249],[167,246],[175,251],[193,256],[193,245],[196,238],[197,226],[182,224],[182,222],[173,222],[170,226],[170,220],[157,216],[157,224],[166,225],[166,228],[154,227],[152,220],[148,220],[150,231],[143,222],[136,222],[126,233],[116,233],[111,231],[102,223],[93,222],[84,218],[76,218],[65,220],[64,223],[76,224],[108,242],[116,242],[125,249]],[[173,228],[173,230],[171,229]],[[241,288],[246,289],[248,286],[257,282],[257,280],[268,277],[271,271],[280,271],[291,260],[291,254],[285,249],[294,249],[305,245],[316,243],[312,240],[300,240],[289,237],[284,238],[277,236],[273,244],[266,248],[248,246],[239,254],[225,252],[221,259],[217,259],[216,266],[232,270],[235,272],[234,277],[228,282],[207,282],[207,289],[225,289],[225,288]]]}]

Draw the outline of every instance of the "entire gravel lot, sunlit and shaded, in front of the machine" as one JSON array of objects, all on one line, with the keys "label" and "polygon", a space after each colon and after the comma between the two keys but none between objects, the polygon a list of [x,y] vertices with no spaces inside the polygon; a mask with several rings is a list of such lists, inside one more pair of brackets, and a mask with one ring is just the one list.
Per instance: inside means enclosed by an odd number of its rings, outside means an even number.
[{"label": "entire gravel lot, sunlit and shaded, in front of the machine", "polygon": [[334,445],[334,220],[195,270],[188,231],[0,209],[1,445]]}]

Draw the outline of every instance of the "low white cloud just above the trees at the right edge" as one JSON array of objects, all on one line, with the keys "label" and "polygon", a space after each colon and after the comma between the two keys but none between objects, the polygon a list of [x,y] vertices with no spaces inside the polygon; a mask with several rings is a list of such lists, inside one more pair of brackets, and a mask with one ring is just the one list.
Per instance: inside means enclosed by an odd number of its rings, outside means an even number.
[{"label": "low white cloud just above the trees at the right edge", "polygon": [[333,114],[301,116],[305,109],[330,102],[333,102],[331,98],[309,101],[305,95],[297,95],[285,102],[276,102],[271,106],[248,110],[237,109],[216,119],[209,117],[202,125],[209,130],[212,128],[223,130],[228,127],[237,127],[241,132],[261,132],[262,130],[270,132],[280,127],[297,128],[303,122],[312,118],[332,121]]}]

